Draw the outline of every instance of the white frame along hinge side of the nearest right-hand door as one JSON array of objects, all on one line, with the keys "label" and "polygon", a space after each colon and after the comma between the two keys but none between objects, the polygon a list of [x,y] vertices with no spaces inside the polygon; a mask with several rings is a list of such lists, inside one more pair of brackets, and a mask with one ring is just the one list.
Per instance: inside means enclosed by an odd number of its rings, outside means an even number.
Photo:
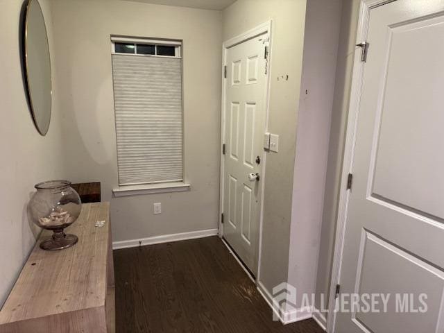
[{"label": "white frame along hinge side of the nearest right-hand door", "polygon": [[[359,20],[357,26],[357,35],[355,44],[365,42],[368,35],[368,24],[370,19],[370,10],[396,0],[361,0],[359,7]],[[371,48],[371,45],[370,45]],[[343,166],[341,171],[341,187],[339,190],[339,205],[336,217],[336,236],[334,241],[334,255],[332,264],[332,275],[330,281],[327,332],[334,333],[336,323],[337,299],[336,285],[340,284],[341,266],[343,259],[343,246],[345,237],[345,224],[348,214],[348,203],[350,199],[350,190],[347,189],[348,174],[353,173],[353,160],[355,157],[356,130],[359,115],[359,104],[361,101],[361,88],[364,80],[364,65],[361,61],[361,52],[359,46],[355,46],[355,59],[353,60],[352,85],[350,89],[350,101],[348,105],[347,134],[345,135]]]}]

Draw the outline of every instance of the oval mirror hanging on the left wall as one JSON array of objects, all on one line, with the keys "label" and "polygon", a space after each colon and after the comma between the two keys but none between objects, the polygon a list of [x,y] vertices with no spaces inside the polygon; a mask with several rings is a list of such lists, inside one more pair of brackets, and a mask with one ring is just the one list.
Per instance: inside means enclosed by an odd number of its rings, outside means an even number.
[{"label": "oval mirror hanging on the left wall", "polygon": [[46,135],[51,121],[51,58],[40,3],[29,0],[24,27],[24,62],[28,101],[35,127]]}]

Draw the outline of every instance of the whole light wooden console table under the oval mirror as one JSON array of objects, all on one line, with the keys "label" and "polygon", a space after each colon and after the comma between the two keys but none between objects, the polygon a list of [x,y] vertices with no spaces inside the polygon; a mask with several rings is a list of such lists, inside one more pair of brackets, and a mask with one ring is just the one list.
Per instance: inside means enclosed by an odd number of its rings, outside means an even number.
[{"label": "whole light wooden console table under the oval mirror", "polygon": [[78,236],[75,246],[42,250],[40,240],[51,237],[44,230],[0,311],[0,332],[113,333],[110,227],[110,203],[88,203],[67,228]]}]

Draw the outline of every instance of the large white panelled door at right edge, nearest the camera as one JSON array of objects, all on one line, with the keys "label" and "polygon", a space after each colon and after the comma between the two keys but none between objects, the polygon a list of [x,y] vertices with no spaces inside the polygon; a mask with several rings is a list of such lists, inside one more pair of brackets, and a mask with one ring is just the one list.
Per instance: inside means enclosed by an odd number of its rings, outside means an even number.
[{"label": "large white panelled door at right edge, nearest the camera", "polygon": [[444,332],[443,10],[370,9],[339,282],[339,300],[365,302],[337,314],[336,333]]}]

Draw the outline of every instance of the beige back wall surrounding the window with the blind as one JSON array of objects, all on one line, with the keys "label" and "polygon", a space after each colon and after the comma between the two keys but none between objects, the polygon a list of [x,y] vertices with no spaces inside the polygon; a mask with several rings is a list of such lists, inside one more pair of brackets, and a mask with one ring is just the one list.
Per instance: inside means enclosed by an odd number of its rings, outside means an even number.
[{"label": "beige back wall surrounding the window with the blind", "polygon": [[[221,12],[115,0],[53,0],[66,168],[100,181],[114,241],[218,228]],[[183,40],[185,180],[191,191],[112,198],[117,154],[110,35]],[[162,214],[153,215],[153,203]]]}]

